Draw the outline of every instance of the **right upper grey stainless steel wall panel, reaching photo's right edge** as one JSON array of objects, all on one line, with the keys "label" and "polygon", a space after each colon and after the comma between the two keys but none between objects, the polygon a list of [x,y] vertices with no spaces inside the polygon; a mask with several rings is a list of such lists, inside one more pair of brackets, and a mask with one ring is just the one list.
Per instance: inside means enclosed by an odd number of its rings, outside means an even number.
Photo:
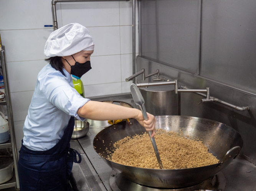
[{"label": "right upper grey stainless steel wall panel, reaching photo's right edge", "polygon": [[256,1],[203,0],[201,74],[255,91]]}]

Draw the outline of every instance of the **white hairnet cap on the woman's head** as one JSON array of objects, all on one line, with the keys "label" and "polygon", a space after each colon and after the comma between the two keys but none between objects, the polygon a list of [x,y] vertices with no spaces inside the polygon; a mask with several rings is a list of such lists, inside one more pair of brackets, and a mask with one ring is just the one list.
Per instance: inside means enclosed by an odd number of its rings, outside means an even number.
[{"label": "white hairnet cap on the woman's head", "polygon": [[81,50],[94,50],[94,42],[87,28],[71,23],[53,31],[45,43],[46,57],[64,57]]}]

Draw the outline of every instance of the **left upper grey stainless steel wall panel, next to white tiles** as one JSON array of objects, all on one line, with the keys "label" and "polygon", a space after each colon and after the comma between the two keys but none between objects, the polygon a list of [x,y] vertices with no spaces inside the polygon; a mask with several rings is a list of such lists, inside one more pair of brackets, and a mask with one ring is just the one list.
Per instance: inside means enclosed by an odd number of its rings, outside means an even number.
[{"label": "left upper grey stainless steel wall panel, next to white tiles", "polygon": [[141,0],[140,6],[141,55],[197,73],[200,0]]}]

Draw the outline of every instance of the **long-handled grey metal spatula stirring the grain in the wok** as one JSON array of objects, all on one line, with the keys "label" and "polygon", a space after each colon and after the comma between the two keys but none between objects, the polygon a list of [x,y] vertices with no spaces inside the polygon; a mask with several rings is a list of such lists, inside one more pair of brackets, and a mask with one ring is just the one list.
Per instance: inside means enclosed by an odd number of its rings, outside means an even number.
[{"label": "long-handled grey metal spatula stirring the grain in the wok", "polygon": [[[142,97],[138,87],[135,84],[132,84],[130,86],[130,92],[132,93],[132,98],[133,98],[135,104],[139,105],[140,110],[141,110],[141,112],[143,114],[143,117],[147,121],[148,120],[147,112],[146,112],[146,108],[145,108],[145,105],[144,105],[145,101],[144,101],[144,99],[143,99],[143,97]],[[155,144],[155,138],[154,137],[151,138],[151,134],[152,134],[152,131],[149,131],[149,136],[150,136],[150,139],[151,139],[154,151],[155,151],[155,155],[157,157],[157,162],[159,164],[159,167],[164,169],[162,161],[160,159],[160,155],[159,155],[158,149],[157,149],[157,145]]]}]

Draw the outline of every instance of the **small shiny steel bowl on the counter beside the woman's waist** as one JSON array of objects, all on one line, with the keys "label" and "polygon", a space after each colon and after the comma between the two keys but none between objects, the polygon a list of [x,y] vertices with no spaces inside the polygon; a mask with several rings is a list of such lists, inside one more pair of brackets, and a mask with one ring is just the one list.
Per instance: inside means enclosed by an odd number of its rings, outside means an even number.
[{"label": "small shiny steel bowl on the counter beside the woman's waist", "polygon": [[75,120],[74,130],[72,133],[72,139],[78,139],[85,136],[90,128],[90,124],[87,121]]}]

